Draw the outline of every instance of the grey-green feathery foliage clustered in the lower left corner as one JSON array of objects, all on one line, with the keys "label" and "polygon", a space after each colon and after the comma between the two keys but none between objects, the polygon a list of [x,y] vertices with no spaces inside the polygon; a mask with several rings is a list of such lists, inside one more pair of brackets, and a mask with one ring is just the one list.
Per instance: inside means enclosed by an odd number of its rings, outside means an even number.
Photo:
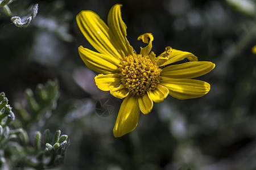
[{"label": "grey-green feathery foliage clustered in the lower left corner", "polygon": [[[44,137],[40,131],[35,132],[34,142],[30,141],[28,133],[24,129],[30,129],[30,124],[35,123],[43,114],[52,108],[58,94],[56,81],[49,81],[46,86],[38,85],[38,102],[27,90],[27,102],[31,106],[31,114],[22,109],[23,119],[19,120],[22,128],[14,128],[14,113],[8,105],[5,94],[0,94],[0,169],[48,169],[63,163],[65,151],[69,145],[68,135],[60,135],[60,130],[55,132],[54,138],[50,139],[49,129],[44,130]],[[36,107],[32,107],[36,106]],[[24,118],[26,114],[27,118]],[[31,143],[34,143],[33,145]]]}]

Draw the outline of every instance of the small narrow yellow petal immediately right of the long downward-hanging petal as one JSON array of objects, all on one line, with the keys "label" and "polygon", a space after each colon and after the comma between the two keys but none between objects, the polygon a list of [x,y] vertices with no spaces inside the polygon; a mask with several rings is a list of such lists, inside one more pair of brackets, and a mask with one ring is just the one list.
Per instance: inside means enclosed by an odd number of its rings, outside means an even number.
[{"label": "small narrow yellow petal immediately right of the long downward-hanging petal", "polygon": [[142,113],[147,114],[152,110],[153,101],[150,99],[150,96],[148,93],[143,96],[140,96],[138,101],[139,101],[139,108],[141,109]]}]

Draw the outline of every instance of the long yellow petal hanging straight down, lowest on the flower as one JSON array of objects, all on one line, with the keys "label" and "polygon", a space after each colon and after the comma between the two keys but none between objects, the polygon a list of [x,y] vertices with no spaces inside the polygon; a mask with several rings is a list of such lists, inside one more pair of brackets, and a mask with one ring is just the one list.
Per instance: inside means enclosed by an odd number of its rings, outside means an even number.
[{"label": "long yellow petal hanging straight down, lowest on the flower", "polygon": [[128,95],[121,107],[115,121],[113,129],[114,137],[122,137],[131,131],[133,131],[138,125],[139,121],[139,103],[138,97]]}]

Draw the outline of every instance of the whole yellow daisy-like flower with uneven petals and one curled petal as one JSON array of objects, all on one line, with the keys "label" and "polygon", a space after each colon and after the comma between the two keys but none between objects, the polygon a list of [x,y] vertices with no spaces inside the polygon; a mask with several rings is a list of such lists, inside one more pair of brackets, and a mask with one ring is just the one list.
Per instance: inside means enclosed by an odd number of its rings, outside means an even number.
[{"label": "whole yellow daisy-like flower with uneven petals and one curled petal", "polygon": [[[151,52],[153,36],[144,33],[138,37],[147,44],[138,54],[126,39],[126,25],[121,18],[122,5],[114,5],[108,15],[108,25],[93,11],[81,11],[77,25],[82,34],[98,51],[79,46],[85,65],[99,73],[95,83],[102,91],[123,99],[113,133],[121,137],[133,131],[139,112],[147,114],[153,101],[163,101],[167,95],[177,99],[192,99],[207,94],[210,84],[195,80],[209,73],[214,63],[198,61],[192,53],[172,49],[170,46],[155,57]],[[187,58],[189,62],[173,64]]]}]

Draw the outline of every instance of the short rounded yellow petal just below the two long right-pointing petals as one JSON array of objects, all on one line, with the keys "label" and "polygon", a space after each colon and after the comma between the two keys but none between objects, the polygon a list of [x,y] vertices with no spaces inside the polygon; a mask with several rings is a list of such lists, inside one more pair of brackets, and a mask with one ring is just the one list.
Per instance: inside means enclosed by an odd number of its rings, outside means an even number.
[{"label": "short rounded yellow petal just below the two long right-pointing petals", "polygon": [[149,96],[155,103],[159,103],[166,99],[166,97],[168,96],[168,92],[168,88],[162,86],[161,84],[158,84],[155,90],[149,92]]}]

